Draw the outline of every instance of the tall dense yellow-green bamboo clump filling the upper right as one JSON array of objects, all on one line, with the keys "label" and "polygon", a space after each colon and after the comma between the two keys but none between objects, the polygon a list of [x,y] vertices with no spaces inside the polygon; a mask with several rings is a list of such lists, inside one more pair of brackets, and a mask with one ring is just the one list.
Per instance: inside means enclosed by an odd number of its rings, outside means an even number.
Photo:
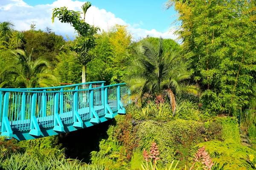
[{"label": "tall dense yellow-green bamboo clump filling the upper right", "polygon": [[237,116],[256,91],[255,2],[169,0],[171,6],[182,22],[176,33],[185,58],[205,90],[202,107],[209,114]]}]

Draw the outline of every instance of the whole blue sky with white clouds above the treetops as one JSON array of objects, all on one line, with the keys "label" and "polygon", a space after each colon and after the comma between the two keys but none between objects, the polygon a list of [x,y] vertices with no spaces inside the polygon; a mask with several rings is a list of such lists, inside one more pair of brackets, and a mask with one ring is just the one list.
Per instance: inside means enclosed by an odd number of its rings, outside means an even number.
[{"label": "whole blue sky with white clouds above the treetops", "polygon": [[[0,0],[0,22],[12,20],[16,29],[29,29],[31,22],[37,28],[46,26],[61,35],[72,36],[73,29],[63,23],[50,22],[52,8],[67,6],[68,9],[80,10],[84,0]],[[114,24],[128,25],[134,39],[145,37],[175,38],[169,31],[175,20],[173,9],[165,10],[166,0],[90,0],[92,7],[88,10],[87,22],[107,29]],[[19,8],[19,12],[16,10]],[[17,28],[19,27],[19,28]]]}]

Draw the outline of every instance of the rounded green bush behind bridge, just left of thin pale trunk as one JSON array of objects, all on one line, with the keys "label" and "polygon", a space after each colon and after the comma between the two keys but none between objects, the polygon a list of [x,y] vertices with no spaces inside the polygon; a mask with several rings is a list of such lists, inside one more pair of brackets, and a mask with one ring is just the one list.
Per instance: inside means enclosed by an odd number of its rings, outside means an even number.
[{"label": "rounded green bush behind bridge, just left of thin pale trunk", "polygon": [[61,52],[56,56],[58,64],[55,72],[60,77],[62,83],[81,83],[81,63],[77,61],[75,55],[71,51]]}]

